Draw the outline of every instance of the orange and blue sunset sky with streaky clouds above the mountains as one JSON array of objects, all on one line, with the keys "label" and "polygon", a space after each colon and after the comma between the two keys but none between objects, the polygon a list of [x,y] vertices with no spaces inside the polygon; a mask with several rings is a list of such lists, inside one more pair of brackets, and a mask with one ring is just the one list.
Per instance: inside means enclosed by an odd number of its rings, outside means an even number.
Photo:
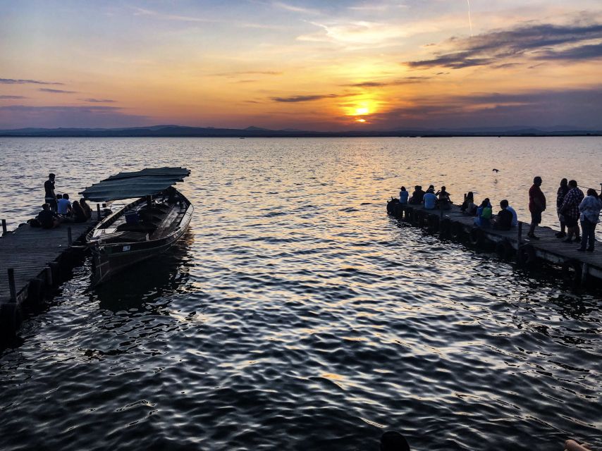
[{"label": "orange and blue sunset sky with streaky clouds above the mountains", "polygon": [[602,129],[602,1],[0,0],[0,129]]}]

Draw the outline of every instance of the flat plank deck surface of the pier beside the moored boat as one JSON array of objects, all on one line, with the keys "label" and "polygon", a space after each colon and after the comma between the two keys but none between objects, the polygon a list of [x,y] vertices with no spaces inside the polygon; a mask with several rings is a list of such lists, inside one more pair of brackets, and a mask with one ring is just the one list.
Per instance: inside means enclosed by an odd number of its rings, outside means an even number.
[{"label": "flat plank deck surface of the pier beside the moored boat", "polygon": [[[94,218],[94,216],[92,216]],[[85,235],[96,221],[63,223],[51,230],[22,226],[0,238],[0,303],[10,300],[8,268],[15,270],[18,299],[22,300],[30,280],[45,270],[51,261],[59,259],[69,248],[68,227],[73,242]]]}]

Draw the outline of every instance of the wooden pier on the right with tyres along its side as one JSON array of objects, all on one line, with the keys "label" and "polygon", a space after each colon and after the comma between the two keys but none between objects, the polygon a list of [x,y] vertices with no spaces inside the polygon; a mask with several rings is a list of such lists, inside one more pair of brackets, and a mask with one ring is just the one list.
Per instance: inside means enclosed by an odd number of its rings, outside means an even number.
[{"label": "wooden pier on the right with tyres along its side", "polygon": [[494,248],[499,257],[516,259],[522,266],[535,266],[539,261],[561,266],[563,277],[575,284],[586,280],[602,281],[602,243],[597,240],[594,252],[579,252],[579,242],[565,243],[555,236],[558,230],[549,227],[536,228],[539,240],[527,237],[528,223],[519,222],[508,231],[479,228],[474,226],[474,216],[463,214],[455,205],[448,210],[426,210],[422,205],[389,202],[387,211],[441,237],[467,242],[474,247]]}]

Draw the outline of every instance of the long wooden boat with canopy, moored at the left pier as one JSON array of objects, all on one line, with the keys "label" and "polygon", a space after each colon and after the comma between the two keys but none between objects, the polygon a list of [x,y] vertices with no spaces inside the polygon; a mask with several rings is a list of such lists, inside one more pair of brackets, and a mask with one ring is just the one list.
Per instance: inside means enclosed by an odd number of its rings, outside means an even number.
[{"label": "long wooden boat with canopy, moored at the left pier", "polygon": [[92,202],[138,198],[86,235],[94,254],[94,285],[164,252],[184,235],[194,208],[173,185],[188,175],[186,168],[146,168],[111,175],[80,192]]}]

